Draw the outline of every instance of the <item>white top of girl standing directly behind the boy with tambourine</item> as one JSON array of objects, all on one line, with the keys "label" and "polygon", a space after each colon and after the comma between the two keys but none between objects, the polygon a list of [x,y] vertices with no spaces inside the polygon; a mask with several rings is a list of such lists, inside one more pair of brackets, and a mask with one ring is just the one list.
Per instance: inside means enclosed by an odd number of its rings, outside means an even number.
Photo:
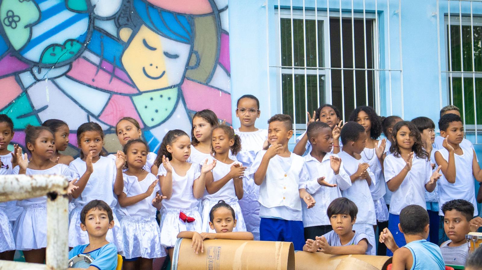
[{"label": "white top of girl standing directly behind the boy with tambourine", "polygon": [[[100,156],[97,162],[93,163],[94,172],[91,174],[84,190],[77,199],[73,200],[76,207],[82,208],[92,200],[103,200],[111,208],[117,206],[117,196],[114,194],[114,183],[117,176],[117,167],[111,158]],[[80,177],[87,170],[85,161],[80,157],[70,162],[72,179],[80,180]]]}]

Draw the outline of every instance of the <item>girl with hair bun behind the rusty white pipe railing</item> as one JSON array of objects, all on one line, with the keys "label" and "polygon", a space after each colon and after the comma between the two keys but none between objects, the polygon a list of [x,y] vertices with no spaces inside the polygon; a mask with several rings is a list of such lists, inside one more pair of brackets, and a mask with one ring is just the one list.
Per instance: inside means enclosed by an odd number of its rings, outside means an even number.
[{"label": "girl with hair bun behind the rusty white pipe railing", "polygon": [[[23,158],[18,149],[16,159],[20,167],[19,174],[56,174],[71,179],[67,165],[52,161],[55,141],[49,128],[28,125],[25,129],[25,145],[32,159],[28,162],[27,154]],[[47,246],[47,196],[17,201],[17,206],[22,206],[23,212],[13,228],[16,249],[23,251],[26,262],[44,263]]]}]

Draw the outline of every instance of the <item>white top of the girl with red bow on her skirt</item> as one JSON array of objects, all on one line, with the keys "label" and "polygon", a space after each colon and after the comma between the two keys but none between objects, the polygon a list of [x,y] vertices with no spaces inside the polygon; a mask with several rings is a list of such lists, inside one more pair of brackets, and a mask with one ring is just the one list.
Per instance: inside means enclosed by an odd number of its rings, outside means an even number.
[{"label": "white top of the girl with red bow on her skirt", "polygon": [[[192,149],[193,147],[191,147]],[[159,167],[158,176],[166,175],[166,168],[163,165]],[[185,176],[179,176],[173,168],[173,194],[170,199],[162,200],[162,208],[175,209],[192,209],[197,207],[199,199],[194,197],[192,189],[194,180],[201,176],[201,166],[199,164],[191,164]]]}]

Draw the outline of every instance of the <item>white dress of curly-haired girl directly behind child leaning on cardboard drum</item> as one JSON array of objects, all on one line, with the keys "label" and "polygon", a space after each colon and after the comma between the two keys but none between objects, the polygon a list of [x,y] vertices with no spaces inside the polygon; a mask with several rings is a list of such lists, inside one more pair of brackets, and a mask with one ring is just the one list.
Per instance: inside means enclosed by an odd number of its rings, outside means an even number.
[{"label": "white dress of curly-haired girl directly behind child leaning on cardboard drum", "polygon": [[[240,163],[240,162],[235,162]],[[225,177],[231,170],[232,164],[222,163],[217,161],[216,167],[212,170],[214,181],[220,180]],[[241,164],[241,163],[240,163]],[[243,178],[243,181],[246,178]],[[244,223],[244,217],[241,212],[241,206],[238,203],[238,197],[236,197],[236,191],[234,190],[234,180],[229,180],[218,192],[214,194],[208,194],[202,199],[202,231],[204,232],[216,232],[209,227],[209,212],[219,200],[224,200],[229,206],[233,207],[235,213],[235,219],[237,219],[236,227],[233,231],[246,231],[246,225]]]}]

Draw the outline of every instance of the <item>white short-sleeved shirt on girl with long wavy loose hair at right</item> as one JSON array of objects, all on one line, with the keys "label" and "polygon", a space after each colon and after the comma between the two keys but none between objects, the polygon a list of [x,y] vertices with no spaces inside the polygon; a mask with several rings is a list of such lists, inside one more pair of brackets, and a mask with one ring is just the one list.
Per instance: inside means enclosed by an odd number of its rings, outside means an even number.
[{"label": "white short-sleeved shirt on girl with long wavy loose hair at right", "polygon": [[[388,182],[402,171],[406,162],[402,157],[389,154],[385,157],[383,165],[385,181]],[[409,205],[418,205],[427,209],[425,203],[425,184],[430,181],[431,175],[432,167],[427,158],[418,158],[414,154],[412,168],[407,173],[405,179],[403,179],[400,187],[392,193],[390,213],[400,215],[400,211]]]}]

